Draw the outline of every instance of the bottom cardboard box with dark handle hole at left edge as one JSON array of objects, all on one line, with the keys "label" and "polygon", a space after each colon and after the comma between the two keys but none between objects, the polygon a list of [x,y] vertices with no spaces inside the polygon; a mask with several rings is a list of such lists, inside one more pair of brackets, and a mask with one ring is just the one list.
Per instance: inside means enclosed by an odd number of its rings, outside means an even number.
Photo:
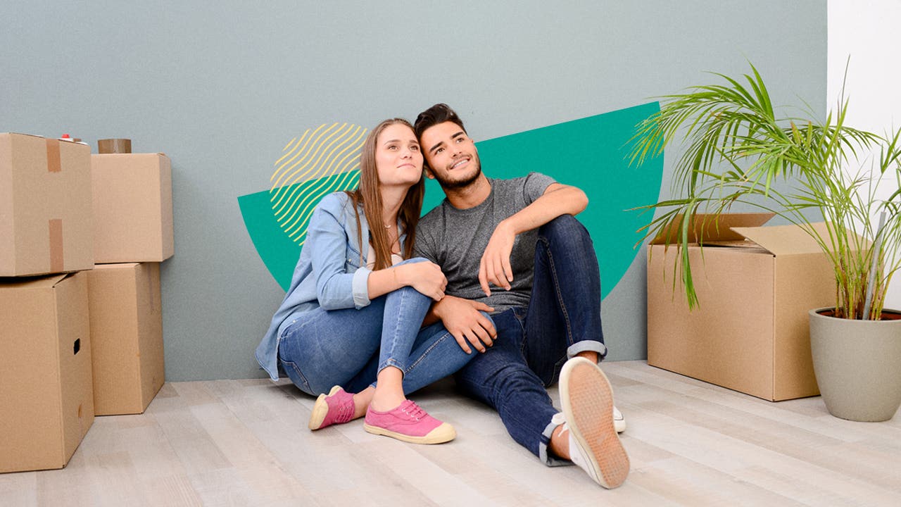
[{"label": "bottom cardboard box with dark handle hole at left edge", "polygon": [[94,422],[87,275],[0,284],[0,473],[66,466]]}]

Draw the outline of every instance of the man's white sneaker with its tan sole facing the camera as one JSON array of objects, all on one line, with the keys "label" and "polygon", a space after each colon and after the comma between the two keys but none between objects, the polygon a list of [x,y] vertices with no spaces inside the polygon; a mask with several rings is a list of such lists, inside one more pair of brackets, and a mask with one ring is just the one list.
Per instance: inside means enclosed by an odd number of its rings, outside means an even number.
[{"label": "man's white sneaker with its tan sole facing the camera", "polygon": [[[629,456],[614,427],[610,383],[597,364],[584,357],[573,357],[563,364],[560,404],[572,462],[605,488],[623,484],[629,475]],[[559,420],[558,416],[554,419]]]}]

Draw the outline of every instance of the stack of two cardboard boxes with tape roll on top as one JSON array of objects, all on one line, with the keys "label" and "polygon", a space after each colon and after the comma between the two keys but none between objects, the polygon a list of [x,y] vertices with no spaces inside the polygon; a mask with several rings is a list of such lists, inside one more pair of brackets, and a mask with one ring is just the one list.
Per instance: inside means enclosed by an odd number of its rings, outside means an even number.
[{"label": "stack of two cardboard boxes with tape roll on top", "polygon": [[147,409],[165,382],[159,263],[172,256],[172,174],[162,153],[91,155],[88,273],[97,415]]}]

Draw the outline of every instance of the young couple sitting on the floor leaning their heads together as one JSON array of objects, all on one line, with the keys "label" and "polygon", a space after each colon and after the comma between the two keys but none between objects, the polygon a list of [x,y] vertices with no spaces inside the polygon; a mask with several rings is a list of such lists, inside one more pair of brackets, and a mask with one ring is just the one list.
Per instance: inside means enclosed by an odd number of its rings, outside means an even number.
[{"label": "young couple sitting on the floor leaning their heads together", "polygon": [[[446,198],[420,218],[423,167]],[[257,360],[319,396],[310,429],[365,416],[370,433],[419,444],[456,432],[405,394],[454,374],[542,462],[618,486],[629,458],[597,366],[600,274],[573,217],[586,206],[537,172],[488,179],[446,105],[386,120],[363,145],[358,189],[316,207]],[[558,380],[562,412],[546,391]]]}]

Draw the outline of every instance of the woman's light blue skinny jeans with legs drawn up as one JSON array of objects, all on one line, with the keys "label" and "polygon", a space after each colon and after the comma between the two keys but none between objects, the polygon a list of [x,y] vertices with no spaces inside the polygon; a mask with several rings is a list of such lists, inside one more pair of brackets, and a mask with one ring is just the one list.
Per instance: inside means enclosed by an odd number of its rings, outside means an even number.
[{"label": "woman's light blue skinny jeans with legs drawn up", "polygon": [[404,373],[405,393],[414,392],[457,372],[474,355],[463,352],[441,323],[420,329],[431,305],[429,297],[403,287],[362,309],[308,311],[280,336],[279,363],[307,394],[333,385],[360,392],[387,366]]}]

